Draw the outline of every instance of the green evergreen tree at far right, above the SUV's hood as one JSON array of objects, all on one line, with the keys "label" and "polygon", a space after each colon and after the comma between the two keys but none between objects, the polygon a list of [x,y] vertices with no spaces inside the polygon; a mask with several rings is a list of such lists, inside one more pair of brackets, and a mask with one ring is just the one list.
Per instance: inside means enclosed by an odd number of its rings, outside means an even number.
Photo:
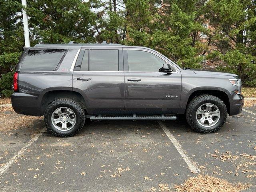
[{"label": "green evergreen tree at far right, above the SUV's hood", "polygon": [[210,0],[205,16],[214,26],[211,44],[216,46],[209,58],[222,62],[220,70],[256,86],[256,1]]}]

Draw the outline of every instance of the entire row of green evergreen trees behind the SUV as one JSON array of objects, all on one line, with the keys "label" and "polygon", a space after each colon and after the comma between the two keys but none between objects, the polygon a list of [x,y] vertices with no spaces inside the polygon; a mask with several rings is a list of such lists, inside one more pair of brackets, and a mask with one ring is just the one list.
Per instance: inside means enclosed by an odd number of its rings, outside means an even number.
[{"label": "entire row of green evergreen trees behind the SUV", "polygon": [[[0,4],[0,92],[10,96],[24,46],[22,5]],[[256,86],[255,0],[29,0],[25,9],[31,46],[106,40],[150,47],[192,68],[207,55]]]}]

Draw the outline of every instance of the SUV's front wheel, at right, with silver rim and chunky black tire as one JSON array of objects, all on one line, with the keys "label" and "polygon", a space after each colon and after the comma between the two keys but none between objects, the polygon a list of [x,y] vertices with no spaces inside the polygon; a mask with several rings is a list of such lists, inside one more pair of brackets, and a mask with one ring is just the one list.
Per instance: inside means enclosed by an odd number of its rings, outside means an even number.
[{"label": "SUV's front wheel, at right, with silver rim and chunky black tire", "polygon": [[225,124],[226,118],[226,105],[216,96],[197,96],[187,106],[186,120],[199,133],[218,131]]}]

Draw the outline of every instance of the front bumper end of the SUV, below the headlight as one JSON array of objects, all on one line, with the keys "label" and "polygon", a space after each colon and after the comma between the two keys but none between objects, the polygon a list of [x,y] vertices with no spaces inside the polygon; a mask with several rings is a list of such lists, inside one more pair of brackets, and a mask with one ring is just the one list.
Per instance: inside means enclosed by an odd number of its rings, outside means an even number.
[{"label": "front bumper end of the SUV, below the headlight", "polygon": [[237,115],[242,111],[244,106],[244,96],[242,94],[233,94],[230,99],[230,112],[229,115]]}]

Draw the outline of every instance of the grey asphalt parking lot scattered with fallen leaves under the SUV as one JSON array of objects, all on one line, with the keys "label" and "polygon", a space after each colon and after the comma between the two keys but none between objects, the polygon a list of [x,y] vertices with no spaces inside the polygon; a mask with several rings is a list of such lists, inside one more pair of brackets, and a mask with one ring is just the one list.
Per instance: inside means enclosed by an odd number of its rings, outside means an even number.
[{"label": "grey asphalt parking lot scattered with fallen leaves under the SUV", "polygon": [[198,174],[256,191],[256,107],[245,109],[214,134],[193,132],[180,116],[88,122],[70,138],[48,134],[42,117],[0,109],[0,191],[174,191]]}]

